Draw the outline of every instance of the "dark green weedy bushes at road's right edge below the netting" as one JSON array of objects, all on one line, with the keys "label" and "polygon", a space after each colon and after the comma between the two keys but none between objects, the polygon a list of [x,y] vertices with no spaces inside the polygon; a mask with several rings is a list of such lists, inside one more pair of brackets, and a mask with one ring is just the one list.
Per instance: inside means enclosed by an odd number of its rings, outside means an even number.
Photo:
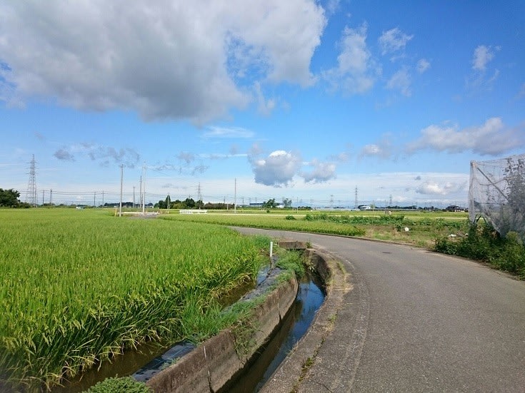
[{"label": "dark green weedy bushes at road's right edge below the netting", "polygon": [[488,262],[496,269],[525,279],[525,246],[514,232],[503,238],[490,225],[471,224],[464,236],[437,239],[435,250]]}]

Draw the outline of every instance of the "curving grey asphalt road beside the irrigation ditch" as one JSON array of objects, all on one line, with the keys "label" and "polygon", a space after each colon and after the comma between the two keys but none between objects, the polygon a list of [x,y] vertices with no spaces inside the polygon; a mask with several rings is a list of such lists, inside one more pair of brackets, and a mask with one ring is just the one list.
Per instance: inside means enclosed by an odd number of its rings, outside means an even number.
[{"label": "curving grey asphalt road beside the irrigation ditch", "polygon": [[323,247],[351,273],[299,392],[525,392],[525,282],[404,245],[266,232]]}]

